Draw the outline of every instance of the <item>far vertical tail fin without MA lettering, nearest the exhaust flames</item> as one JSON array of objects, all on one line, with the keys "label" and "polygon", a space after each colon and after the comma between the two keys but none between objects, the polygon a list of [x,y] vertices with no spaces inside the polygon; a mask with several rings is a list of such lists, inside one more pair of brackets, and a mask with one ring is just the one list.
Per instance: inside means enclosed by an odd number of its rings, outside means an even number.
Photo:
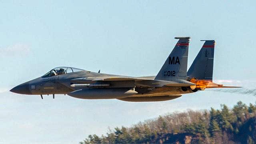
[{"label": "far vertical tail fin without MA lettering, nearest the exhaust flames", "polygon": [[196,78],[199,80],[212,81],[213,73],[213,59],[214,59],[214,40],[205,41],[200,52],[196,56],[192,65],[188,70],[189,78]]}]

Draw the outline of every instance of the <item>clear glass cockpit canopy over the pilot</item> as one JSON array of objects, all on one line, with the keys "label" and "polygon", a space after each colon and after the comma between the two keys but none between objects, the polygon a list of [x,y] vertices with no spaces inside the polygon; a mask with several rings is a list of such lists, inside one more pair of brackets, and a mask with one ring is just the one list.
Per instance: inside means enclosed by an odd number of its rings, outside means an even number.
[{"label": "clear glass cockpit canopy over the pilot", "polygon": [[58,76],[61,74],[68,74],[68,73],[79,72],[79,71],[82,71],[82,69],[71,68],[71,67],[57,67],[57,68],[50,70],[50,72],[47,72],[42,77],[45,78],[45,77],[50,77],[50,76]]}]

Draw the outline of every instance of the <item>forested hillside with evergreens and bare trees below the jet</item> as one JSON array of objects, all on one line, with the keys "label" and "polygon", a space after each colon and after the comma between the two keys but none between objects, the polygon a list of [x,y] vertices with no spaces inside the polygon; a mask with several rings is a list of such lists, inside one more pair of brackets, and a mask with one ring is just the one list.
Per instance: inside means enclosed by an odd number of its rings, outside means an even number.
[{"label": "forested hillside with evergreens and bare trees below the jet", "polygon": [[256,104],[238,102],[232,109],[175,112],[139,122],[132,127],[116,127],[105,135],[89,135],[87,143],[240,143],[256,142]]}]

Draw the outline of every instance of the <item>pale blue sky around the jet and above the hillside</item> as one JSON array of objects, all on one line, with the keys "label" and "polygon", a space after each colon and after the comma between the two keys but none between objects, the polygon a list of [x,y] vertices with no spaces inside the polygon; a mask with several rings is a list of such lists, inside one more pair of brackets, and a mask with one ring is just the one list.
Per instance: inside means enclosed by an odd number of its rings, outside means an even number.
[{"label": "pale blue sky around the jet and above the hillside", "polygon": [[156,75],[190,36],[188,67],[216,40],[214,82],[254,89],[256,1],[0,0],[0,143],[78,143],[108,128],[187,109],[254,103],[250,94],[205,90],[166,102],[20,95],[14,86],[58,66],[126,76]]}]

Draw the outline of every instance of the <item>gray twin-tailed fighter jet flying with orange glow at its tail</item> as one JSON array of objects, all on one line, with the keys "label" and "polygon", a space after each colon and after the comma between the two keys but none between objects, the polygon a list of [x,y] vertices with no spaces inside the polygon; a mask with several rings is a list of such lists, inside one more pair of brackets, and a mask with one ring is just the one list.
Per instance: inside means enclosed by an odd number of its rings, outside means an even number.
[{"label": "gray twin-tailed fighter jet flying with orange glow at its tail", "polygon": [[81,99],[118,99],[128,102],[155,102],[179,98],[204,90],[224,87],[212,82],[214,40],[206,40],[188,70],[190,37],[175,37],[176,46],[156,76],[132,77],[58,67],[43,76],[20,84],[10,91],[18,94],[67,94]]}]

